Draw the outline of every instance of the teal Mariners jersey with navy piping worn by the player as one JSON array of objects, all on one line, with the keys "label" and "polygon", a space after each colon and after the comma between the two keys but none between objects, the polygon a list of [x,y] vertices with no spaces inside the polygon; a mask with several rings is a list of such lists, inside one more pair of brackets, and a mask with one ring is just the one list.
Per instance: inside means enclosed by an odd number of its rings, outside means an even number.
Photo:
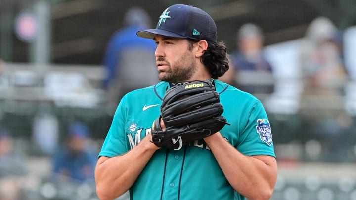
[{"label": "teal Mariners jersey with navy piping worn by the player", "polygon": [[[271,128],[260,100],[216,80],[223,116],[231,125],[220,131],[238,151],[247,156],[275,157]],[[113,118],[99,156],[114,157],[134,148],[160,115],[167,82],[126,94]],[[162,148],[147,163],[130,188],[131,200],[244,200],[225,178],[204,140],[180,150]]]}]

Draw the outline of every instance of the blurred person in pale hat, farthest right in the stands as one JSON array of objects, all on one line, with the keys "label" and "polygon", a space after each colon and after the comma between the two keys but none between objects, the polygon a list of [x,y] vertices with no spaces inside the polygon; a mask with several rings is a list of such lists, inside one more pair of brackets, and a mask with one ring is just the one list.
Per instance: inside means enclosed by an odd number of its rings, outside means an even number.
[{"label": "blurred person in pale hat, farthest right in the stands", "polygon": [[318,17],[309,25],[301,45],[304,94],[342,94],[347,74],[342,36],[331,20]]}]

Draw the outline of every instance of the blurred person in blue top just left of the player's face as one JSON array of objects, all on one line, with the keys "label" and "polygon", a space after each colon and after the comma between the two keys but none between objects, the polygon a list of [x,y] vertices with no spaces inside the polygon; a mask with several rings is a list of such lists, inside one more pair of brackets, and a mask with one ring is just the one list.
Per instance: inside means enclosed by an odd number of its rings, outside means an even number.
[{"label": "blurred person in blue top just left of the player's face", "polygon": [[150,23],[145,10],[132,7],[125,15],[124,27],[111,37],[104,57],[104,88],[109,101],[116,102],[127,92],[158,81],[156,44],[136,35],[138,30],[149,28]]}]

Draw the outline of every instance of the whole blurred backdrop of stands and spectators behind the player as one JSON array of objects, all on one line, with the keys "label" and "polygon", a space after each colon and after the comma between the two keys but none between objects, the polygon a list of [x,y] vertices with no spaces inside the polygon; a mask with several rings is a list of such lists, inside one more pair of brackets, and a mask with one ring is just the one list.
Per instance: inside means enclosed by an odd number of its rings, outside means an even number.
[{"label": "whole blurred backdrop of stands and spectators behind the player", "polygon": [[[98,200],[93,170],[120,97],[158,82],[155,27],[206,10],[221,78],[262,100],[272,200],[356,200],[356,1],[0,0],[0,200]],[[127,199],[127,194],[118,198]]]}]

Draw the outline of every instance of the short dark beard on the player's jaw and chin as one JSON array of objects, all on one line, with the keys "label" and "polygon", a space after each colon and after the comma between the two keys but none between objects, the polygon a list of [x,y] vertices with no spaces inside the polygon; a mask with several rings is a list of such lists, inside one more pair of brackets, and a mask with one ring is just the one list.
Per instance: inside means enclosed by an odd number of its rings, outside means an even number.
[{"label": "short dark beard on the player's jaw and chin", "polygon": [[189,80],[197,71],[197,64],[194,59],[188,58],[188,52],[181,56],[178,63],[173,66],[164,58],[158,58],[158,61],[165,61],[169,66],[169,70],[165,72],[158,72],[159,79],[170,83],[177,83],[180,81]]}]

